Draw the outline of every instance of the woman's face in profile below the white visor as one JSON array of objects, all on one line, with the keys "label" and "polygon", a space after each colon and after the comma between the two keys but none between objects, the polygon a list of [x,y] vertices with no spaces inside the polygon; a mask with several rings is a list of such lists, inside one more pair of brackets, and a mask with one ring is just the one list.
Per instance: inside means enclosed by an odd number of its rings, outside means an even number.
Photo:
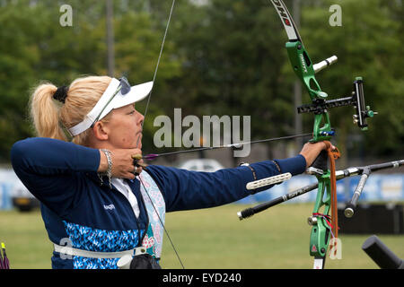
[{"label": "woman's face in profile below the white visor", "polygon": [[130,104],[111,111],[110,120],[105,123],[108,141],[119,149],[142,149],[142,123],[144,116]]}]

